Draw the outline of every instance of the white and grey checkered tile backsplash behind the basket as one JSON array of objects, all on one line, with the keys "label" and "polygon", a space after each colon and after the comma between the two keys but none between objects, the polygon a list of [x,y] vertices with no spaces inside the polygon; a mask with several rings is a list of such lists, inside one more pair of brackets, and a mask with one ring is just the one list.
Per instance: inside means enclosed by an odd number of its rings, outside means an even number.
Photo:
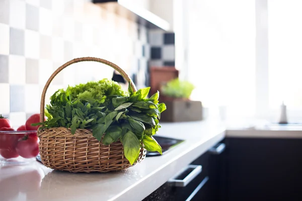
[{"label": "white and grey checkered tile backsplash behind the basket", "polygon": [[[138,87],[142,87],[147,83],[150,55],[147,36],[145,27],[88,0],[1,0],[0,114],[9,116],[16,128],[31,114],[39,113],[41,92],[50,74],[77,57],[112,61],[130,75],[135,74]],[[164,41],[172,43],[166,37]],[[156,60],[173,62],[174,53],[166,53],[174,46],[156,45],[152,48]],[[162,48],[160,56],[156,47]],[[52,81],[46,102],[58,88],[111,78],[112,73],[103,64],[73,64]]]}]

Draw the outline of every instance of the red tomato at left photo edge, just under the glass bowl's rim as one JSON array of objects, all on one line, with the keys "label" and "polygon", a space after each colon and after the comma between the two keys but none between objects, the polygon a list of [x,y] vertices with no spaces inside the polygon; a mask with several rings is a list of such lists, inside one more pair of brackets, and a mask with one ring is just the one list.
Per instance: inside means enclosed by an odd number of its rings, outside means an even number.
[{"label": "red tomato at left photo edge, just under the glass bowl's rim", "polygon": [[[0,131],[14,131],[12,128],[1,128]],[[0,149],[14,150],[19,136],[16,134],[0,133]]]}]

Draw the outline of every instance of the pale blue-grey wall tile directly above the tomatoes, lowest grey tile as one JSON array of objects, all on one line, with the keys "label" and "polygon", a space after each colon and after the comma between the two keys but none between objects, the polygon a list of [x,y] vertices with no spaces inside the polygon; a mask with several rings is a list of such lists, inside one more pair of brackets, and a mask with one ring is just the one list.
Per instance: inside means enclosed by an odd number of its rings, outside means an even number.
[{"label": "pale blue-grey wall tile directly above the tomatoes, lowest grey tile", "polygon": [[24,85],[11,85],[10,86],[10,104],[11,112],[24,112]]}]

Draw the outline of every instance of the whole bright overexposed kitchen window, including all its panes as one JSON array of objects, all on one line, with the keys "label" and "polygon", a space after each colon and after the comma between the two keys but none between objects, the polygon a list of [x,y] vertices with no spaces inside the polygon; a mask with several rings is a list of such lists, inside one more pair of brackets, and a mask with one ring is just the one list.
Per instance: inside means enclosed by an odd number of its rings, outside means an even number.
[{"label": "whole bright overexposed kitchen window, including all its panes", "polygon": [[192,99],[229,117],[276,120],[282,101],[302,116],[302,1],[186,2]]}]

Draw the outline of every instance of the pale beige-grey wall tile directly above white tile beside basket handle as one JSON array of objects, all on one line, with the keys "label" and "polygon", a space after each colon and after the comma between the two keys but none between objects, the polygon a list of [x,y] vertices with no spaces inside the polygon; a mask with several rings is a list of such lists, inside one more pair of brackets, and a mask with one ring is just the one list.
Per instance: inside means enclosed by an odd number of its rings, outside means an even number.
[{"label": "pale beige-grey wall tile directly above white tile beside basket handle", "polygon": [[39,83],[39,61],[37,59],[26,59],[25,82],[28,84]]}]

